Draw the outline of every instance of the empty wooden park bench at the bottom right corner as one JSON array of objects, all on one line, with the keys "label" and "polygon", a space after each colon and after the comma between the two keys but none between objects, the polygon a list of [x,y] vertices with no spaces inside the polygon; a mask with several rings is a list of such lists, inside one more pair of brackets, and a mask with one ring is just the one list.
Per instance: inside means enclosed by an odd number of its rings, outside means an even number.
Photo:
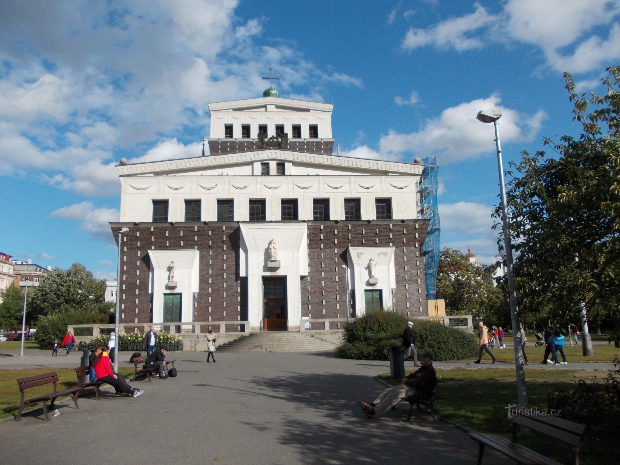
[{"label": "empty wooden park bench at the bottom right corner", "polygon": [[511,423],[512,438],[489,433],[471,432],[469,436],[478,443],[478,465],[482,464],[484,447],[489,446],[499,453],[523,465],[561,465],[560,463],[534,452],[516,443],[516,433],[520,427],[529,428],[538,433],[551,436],[573,446],[575,465],[580,464],[580,452],[583,445],[585,425],[570,422],[564,418],[551,415],[528,415],[519,405],[511,405],[508,412],[508,421]]}]

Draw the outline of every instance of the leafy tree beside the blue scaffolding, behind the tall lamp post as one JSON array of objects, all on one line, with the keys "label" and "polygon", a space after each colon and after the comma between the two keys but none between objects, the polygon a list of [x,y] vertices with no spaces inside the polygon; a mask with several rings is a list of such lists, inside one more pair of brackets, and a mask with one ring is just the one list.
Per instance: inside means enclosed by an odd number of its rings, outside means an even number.
[{"label": "leafy tree beside the blue scaffolding, behind the tall lamp post", "polygon": [[437,298],[445,299],[446,313],[505,324],[509,314],[503,315],[503,311],[508,307],[503,304],[502,291],[492,283],[492,268],[470,263],[459,250],[446,248],[441,251],[436,283]]}]

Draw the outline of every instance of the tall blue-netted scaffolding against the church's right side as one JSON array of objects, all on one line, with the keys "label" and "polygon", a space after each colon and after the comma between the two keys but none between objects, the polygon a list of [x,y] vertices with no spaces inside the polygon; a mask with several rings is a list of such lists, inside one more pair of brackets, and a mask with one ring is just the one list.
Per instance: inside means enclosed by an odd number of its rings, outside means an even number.
[{"label": "tall blue-netted scaffolding against the church's right side", "polygon": [[422,244],[424,272],[426,275],[427,299],[436,299],[437,267],[439,265],[439,210],[437,209],[437,164],[435,157],[424,160],[424,170],[420,178],[420,205],[422,218],[428,219],[428,232]]}]

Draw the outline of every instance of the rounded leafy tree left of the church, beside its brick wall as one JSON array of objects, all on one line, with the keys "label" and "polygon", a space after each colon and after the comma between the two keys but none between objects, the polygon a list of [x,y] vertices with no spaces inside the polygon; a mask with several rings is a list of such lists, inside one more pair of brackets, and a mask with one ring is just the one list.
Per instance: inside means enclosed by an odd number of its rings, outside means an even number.
[{"label": "rounded leafy tree left of the church, beside its brick wall", "polygon": [[96,280],[80,263],[68,270],[55,268],[32,293],[33,316],[46,316],[65,308],[84,308],[105,302],[105,280]]}]

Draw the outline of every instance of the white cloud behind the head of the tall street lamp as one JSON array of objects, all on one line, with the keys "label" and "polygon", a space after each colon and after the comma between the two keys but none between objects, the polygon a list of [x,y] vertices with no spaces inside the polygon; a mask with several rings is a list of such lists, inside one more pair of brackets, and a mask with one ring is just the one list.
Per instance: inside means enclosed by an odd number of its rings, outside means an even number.
[{"label": "white cloud behind the head of the tall street lamp", "polygon": [[499,95],[492,94],[487,99],[476,99],[446,108],[439,117],[427,120],[419,131],[409,134],[390,131],[379,141],[379,152],[384,156],[398,153],[435,155],[441,164],[488,153],[494,139],[492,126],[476,120],[477,112],[483,108],[502,110],[500,136],[505,143],[533,139],[546,113],[541,110],[531,117],[525,117],[515,110],[502,107],[500,101]]}]

